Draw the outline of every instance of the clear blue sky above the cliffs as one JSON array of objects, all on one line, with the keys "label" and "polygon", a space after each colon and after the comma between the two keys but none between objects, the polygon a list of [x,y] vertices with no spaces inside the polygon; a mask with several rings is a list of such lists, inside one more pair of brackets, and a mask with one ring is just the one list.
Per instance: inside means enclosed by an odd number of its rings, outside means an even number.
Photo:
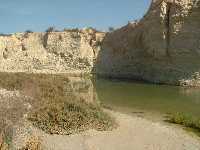
[{"label": "clear blue sky above the cliffs", "polygon": [[151,0],[0,0],[0,33],[94,27],[140,19]]}]

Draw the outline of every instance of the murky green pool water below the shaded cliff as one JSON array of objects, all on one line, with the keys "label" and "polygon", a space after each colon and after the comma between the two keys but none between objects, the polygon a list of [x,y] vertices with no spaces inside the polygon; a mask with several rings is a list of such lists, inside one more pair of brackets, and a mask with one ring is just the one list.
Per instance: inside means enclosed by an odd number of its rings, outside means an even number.
[{"label": "murky green pool water below the shaded cliff", "polygon": [[99,100],[117,110],[200,116],[200,89],[105,79],[95,80],[95,87]]}]

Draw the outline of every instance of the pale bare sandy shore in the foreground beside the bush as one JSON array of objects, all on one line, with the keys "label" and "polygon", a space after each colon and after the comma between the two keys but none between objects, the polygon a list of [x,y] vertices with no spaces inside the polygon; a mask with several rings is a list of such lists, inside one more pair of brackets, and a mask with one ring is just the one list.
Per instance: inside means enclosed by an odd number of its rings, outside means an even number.
[{"label": "pale bare sandy shore in the foreground beside the bush", "polygon": [[41,134],[46,150],[200,150],[200,139],[181,128],[111,112],[119,127],[77,135]]}]

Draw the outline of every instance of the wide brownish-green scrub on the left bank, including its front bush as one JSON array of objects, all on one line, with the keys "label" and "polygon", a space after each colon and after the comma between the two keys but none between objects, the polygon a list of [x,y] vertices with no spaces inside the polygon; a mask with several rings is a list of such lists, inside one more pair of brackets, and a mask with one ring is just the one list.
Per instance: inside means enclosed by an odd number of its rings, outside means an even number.
[{"label": "wide brownish-green scrub on the left bank, including its front bush", "polygon": [[114,119],[98,102],[87,102],[79,96],[81,91],[87,94],[88,85],[71,84],[64,75],[0,73],[1,87],[19,90],[33,98],[27,118],[46,133],[68,135],[88,129],[113,129]]}]

